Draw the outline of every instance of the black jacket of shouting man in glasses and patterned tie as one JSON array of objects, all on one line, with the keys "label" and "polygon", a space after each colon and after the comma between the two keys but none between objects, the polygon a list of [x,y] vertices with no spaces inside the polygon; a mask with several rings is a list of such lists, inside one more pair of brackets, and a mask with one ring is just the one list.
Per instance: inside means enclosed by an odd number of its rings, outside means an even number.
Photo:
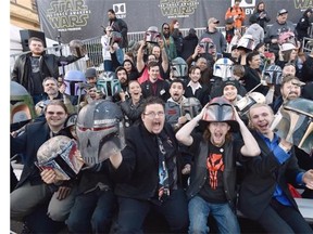
[{"label": "black jacket of shouting man in glasses and patterned tie", "polygon": [[[165,151],[170,190],[175,190],[179,160],[178,144],[174,131],[165,123],[159,134]],[[159,156],[155,134],[147,131],[143,123],[132,126],[125,131],[126,147],[122,151],[123,161],[117,169],[111,167],[111,177],[116,182],[115,194],[135,199],[148,200],[155,197],[159,185]]]}]

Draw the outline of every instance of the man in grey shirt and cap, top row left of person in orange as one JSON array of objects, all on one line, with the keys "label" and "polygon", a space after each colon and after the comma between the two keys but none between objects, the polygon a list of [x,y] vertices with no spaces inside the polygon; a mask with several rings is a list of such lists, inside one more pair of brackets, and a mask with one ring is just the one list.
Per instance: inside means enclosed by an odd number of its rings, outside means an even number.
[{"label": "man in grey shirt and cap, top row left of person in orange", "polygon": [[216,46],[216,52],[223,53],[227,48],[227,41],[224,35],[217,30],[217,24],[220,24],[218,20],[210,17],[206,30],[201,35],[199,40],[201,41],[203,38],[211,38],[213,43]]}]

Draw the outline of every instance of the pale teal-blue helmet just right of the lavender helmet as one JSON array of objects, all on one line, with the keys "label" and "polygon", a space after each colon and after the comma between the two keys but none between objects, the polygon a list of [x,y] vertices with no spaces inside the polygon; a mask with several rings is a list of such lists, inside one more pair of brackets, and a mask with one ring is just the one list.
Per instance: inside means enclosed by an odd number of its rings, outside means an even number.
[{"label": "pale teal-blue helmet just right of the lavender helmet", "polygon": [[113,72],[104,72],[97,81],[97,90],[108,98],[118,94],[122,87]]}]

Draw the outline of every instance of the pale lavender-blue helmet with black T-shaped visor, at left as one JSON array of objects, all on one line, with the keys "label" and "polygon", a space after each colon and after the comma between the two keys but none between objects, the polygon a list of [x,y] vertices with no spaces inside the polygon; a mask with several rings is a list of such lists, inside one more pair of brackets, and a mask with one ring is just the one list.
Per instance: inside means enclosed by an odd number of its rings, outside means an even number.
[{"label": "pale lavender-blue helmet with black T-shaped visor, at left", "polygon": [[67,70],[64,76],[64,83],[66,86],[65,94],[67,95],[85,93],[83,84],[86,83],[86,77],[80,70]]}]

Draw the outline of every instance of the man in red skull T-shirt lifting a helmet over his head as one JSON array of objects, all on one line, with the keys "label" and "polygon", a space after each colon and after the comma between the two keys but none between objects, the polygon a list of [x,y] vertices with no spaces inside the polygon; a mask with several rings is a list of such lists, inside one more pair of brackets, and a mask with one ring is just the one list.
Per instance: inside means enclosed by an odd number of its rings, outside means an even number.
[{"label": "man in red skull T-shirt lifting a helmet over his head", "polygon": [[[223,114],[222,114],[223,113]],[[204,133],[195,132],[199,125]],[[242,140],[233,140],[230,132],[240,131]],[[224,98],[215,98],[176,133],[193,156],[189,199],[189,233],[209,233],[212,214],[220,233],[240,233],[235,214],[236,161],[260,154],[260,147],[235,107]]]}]

